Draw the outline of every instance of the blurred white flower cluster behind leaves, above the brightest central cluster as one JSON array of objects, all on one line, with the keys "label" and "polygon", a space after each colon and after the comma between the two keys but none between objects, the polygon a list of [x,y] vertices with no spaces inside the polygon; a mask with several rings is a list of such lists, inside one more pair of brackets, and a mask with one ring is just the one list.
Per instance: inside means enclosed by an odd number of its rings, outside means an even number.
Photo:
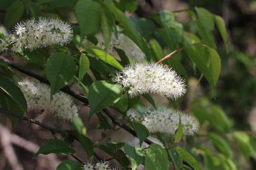
[{"label": "blurred white flower cluster behind leaves, above the brightest central cluster", "polygon": [[[103,36],[100,36],[100,38],[98,38],[98,46],[104,46]],[[125,34],[122,34],[120,32],[117,35],[112,33],[111,41],[108,48],[109,54],[117,57],[118,54],[116,53],[115,48],[123,50],[127,57],[131,57],[132,59],[135,59],[137,61],[141,61],[145,58],[145,54],[141,51],[140,47],[136,45],[136,43],[134,43],[130,38],[125,36]]]}]

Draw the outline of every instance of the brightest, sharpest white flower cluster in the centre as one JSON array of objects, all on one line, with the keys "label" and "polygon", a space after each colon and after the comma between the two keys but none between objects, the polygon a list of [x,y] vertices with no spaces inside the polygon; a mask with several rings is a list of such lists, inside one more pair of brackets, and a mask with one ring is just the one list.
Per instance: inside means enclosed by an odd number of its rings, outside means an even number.
[{"label": "brightest, sharpest white flower cluster in the centre", "polygon": [[152,62],[127,66],[113,80],[129,88],[130,97],[152,93],[177,99],[186,92],[184,80],[175,71]]}]

